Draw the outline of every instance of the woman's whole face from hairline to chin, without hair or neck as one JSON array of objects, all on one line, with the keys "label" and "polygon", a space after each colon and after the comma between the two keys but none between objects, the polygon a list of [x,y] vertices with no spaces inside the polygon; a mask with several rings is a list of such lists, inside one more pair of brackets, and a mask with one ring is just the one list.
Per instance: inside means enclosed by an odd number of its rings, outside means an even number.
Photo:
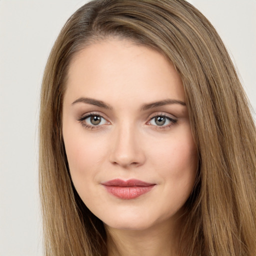
[{"label": "woman's whole face from hairline to chin, without hair or neck", "polygon": [[63,139],[73,184],[108,227],[142,230],[182,214],[196,175],[185,94],[172,63],[126,40],[72,60]]}]

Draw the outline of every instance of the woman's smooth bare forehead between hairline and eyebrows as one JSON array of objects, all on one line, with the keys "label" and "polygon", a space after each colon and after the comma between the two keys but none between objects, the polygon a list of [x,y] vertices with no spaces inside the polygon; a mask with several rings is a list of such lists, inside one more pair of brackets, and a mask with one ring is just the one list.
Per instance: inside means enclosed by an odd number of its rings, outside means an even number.
[{"label": "woman's smooth bare forehead between hairline and eyebrows", "polygon": [[66,85],[65,96],[72,98],[184,101],[182,81],[171,61],[128,40],[100,41],[80,50],[70,63]]}]

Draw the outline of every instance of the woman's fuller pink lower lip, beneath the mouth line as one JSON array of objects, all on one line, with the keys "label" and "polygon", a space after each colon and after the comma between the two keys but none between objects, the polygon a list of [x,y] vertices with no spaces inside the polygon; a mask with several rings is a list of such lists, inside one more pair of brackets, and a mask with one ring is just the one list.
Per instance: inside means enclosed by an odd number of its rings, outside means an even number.
[{"label": "woman's fuller pink lower lip, beneath the mouth line", "polygon": [[106,190],[120,199],[134,199],[149,192],[154,185],[149,186],[106,186]]}]

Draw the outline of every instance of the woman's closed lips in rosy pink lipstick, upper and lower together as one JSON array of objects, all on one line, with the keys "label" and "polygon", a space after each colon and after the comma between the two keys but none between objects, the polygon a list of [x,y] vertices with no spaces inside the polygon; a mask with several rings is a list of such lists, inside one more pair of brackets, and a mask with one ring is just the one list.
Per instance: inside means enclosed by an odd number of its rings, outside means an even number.
[{"label": "woman's closed lips in rosy pink lipstick, upper and lower together", "polygon": [[147,183],[138,179],[121,180],[112,179],[101,183],[106,190],[121,199],[133,199],[149,192],[155,184]]}]

